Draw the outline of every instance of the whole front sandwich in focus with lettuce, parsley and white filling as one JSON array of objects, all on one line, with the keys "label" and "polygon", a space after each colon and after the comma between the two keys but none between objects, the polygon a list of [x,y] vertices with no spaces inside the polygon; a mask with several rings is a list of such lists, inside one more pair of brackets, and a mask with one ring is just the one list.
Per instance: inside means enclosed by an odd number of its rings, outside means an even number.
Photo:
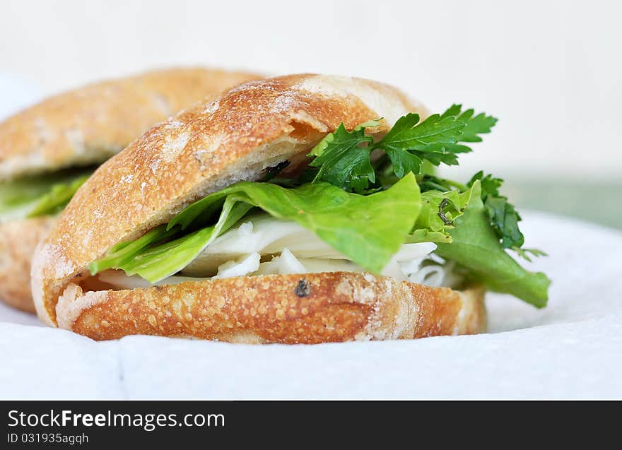
[{"label": "whole front sandwich in focus with lettuce, parsley and white filling", "polygon": [[237,86],[78,189],[35,252],[37,313],[95,340],[327,343],[480,333],[486,289],[544,307],[501,180],[427,168],[495,121],[358,78]]}]

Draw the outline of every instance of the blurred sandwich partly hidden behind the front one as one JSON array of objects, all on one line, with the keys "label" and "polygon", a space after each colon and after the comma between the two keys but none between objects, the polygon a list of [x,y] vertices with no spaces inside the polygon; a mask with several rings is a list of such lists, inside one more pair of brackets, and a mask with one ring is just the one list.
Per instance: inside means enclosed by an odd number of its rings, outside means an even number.
[{"label": "blurred sandwich partly hidden behind the front one", "polygon": [[0,299],[34,312],[30,258],[90,173],[153,124],[252,73],[167,69],[87,85],[0,123]]}]

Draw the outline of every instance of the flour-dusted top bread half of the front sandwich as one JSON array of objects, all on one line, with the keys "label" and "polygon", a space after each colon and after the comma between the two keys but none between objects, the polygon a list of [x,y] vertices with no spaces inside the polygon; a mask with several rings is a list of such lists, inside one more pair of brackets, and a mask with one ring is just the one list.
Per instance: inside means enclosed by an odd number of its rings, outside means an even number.
[{"label": "flour-dusted top bread half of the front sandwich", "polygon": [[112,245],[134,239],[192,201],[266,167],[305,155],[344,122],[424,113],[399,90],[335,76],[293,75],[245,83],[153,126],[105,162],[78,191],[33,262],[37,313],[56,324],[59,295]]}]

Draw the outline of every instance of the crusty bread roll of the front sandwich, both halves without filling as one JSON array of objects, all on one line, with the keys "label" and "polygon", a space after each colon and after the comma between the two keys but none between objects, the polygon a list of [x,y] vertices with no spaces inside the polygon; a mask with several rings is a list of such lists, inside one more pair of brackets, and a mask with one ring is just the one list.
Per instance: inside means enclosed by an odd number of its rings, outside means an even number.
[{"label": "crusty bread roll of the front sandwich, both halves without filling", "polygon": [[[340,122],[384,117],[382,136],[421,105],[382,83],[294,75],[240,85],[146,132],[102,165],[69,203],[33,261],[42,321],[95,339],[148,333],[234,342],[317,343],[476,333],[481,290],[456,292],[370,273],[204,280],[134,290],[88,283],[88,264],[113,245],[167,223],[185,206],[262,177]],[[88,288],[87,288],[88,286]]]}]

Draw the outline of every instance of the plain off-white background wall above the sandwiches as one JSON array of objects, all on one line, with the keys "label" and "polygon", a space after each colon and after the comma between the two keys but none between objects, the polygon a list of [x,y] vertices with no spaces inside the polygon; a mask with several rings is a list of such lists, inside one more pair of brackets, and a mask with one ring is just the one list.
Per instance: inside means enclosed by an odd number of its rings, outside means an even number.
[{"label": "plain off-white background wall above the sandwiches", "polygon": [[619,5],[2,0],[0,73],[41,93],[173,64],[376,78],[435,110],[464,102],[500,118],[464,176],[616,180]]}]

